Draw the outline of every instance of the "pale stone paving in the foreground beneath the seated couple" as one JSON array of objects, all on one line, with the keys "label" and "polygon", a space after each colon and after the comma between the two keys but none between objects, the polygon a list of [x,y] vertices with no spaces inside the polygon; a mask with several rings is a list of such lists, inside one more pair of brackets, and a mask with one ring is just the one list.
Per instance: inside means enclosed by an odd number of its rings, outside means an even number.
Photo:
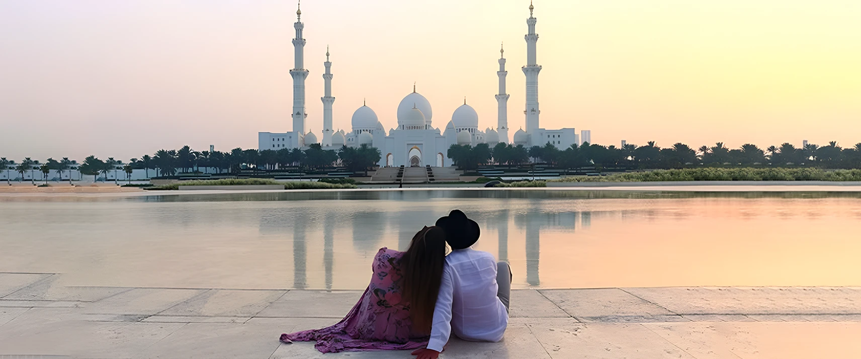
[{"label": "pale stone paving in the foreground beneath the seated couple", "polygon": [[[411,358],[322,355],[282,332],[331,325],[361,292],[65,287],[0,273],[0,359]],[[861,288],[526,289],[500,343],[443,358],[858,358]],[[29,355],[29,356],[26,356]]]}]

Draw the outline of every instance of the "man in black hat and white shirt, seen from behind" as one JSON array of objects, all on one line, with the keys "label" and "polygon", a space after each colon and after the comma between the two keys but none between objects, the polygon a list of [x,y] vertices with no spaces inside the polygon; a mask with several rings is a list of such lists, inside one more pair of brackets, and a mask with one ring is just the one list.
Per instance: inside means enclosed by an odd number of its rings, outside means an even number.
[{"label": "man in black hat and white shirt, seen from behind", "polygon": [[460,210],[437,220],[437,226],[445,230],[452,251],[445,258],[431,340],[427,348],[412,352],[416,359],[437,359],[452,332],[463,340],[499,342],[508,325],[508,263],[469,248],[478,241],[480,228]]}]

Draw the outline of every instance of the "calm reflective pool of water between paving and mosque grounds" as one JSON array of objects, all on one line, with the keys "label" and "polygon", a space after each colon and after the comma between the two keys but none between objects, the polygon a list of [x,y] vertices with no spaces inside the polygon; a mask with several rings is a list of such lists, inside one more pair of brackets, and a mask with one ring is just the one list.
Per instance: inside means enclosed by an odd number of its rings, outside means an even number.
[{"label": "calm reflective pool of water between paving and mosque grounds", "polygon": [[367,285],[452,208],[517,288],[861,285],[861,194],[412,190],[0,198],[0,271],[69,285]]}]

